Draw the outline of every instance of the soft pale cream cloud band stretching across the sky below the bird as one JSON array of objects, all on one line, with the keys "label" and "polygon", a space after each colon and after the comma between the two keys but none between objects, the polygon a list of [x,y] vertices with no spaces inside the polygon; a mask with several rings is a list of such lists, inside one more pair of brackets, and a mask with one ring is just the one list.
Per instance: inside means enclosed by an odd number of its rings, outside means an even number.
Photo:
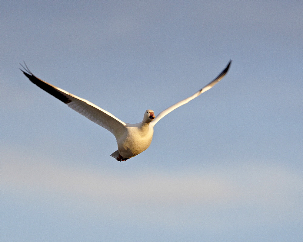
[{"label": "soft pale cream cloud band stretching across the sky below the bird", "polygon": [[98,204],[124,206],[302,207],[302,174],[274,164],[122,174],[1,153],[0,186],[10,192],[85,197]]}]

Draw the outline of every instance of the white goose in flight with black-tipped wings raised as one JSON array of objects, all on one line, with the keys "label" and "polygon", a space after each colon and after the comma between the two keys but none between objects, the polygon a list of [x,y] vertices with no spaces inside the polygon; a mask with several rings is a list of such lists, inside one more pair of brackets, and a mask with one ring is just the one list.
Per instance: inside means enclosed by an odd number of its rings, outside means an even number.
[{"label": "white goose in flight with black-tipped wings raised", "polygon": [[112,134],[114,134],[116,137],[118,150],[112,153],[111,156],[114,157],[117,161],[125,161],[140,154],[149,147],[154,134],[154,126],[161,118],[176,108],[180,107],[181,105],[184,105],[185,103],[188,103],[192,99],[198,97],[201,93],[206,92],[215,86],[226,75],[230,64],[231,60],[225,69],[213,81],[208,83],[194,95],[185,98],[180,102],[177,102],[169,108],[166,108],[157,116],[155,116],[153,110],[146,110],[142,122],[137,124],[125,123],[112,115],[110,112],[105,111],[92,102],[77,97],[76,95],[66,92],[61,88],[53,86],[52,84],[39,79],[34,74],[32,74],[25,63],[25,67],[20,64],[23,68],[23,70],[20,70],[25,76],[28,77],[32,83],[48,92],[49,94],[53,95],[55,98],[58,98],[60,101],[67,104],[68,107],[74,109],[89,120],[112,132]]}]

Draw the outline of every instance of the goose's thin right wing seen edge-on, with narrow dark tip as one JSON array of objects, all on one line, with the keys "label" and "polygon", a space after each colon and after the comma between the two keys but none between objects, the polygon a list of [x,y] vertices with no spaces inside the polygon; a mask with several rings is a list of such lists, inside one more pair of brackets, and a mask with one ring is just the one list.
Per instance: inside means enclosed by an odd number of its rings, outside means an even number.
[{"label": "goose's thin right wing seen edge-on, with narrow dark tip", "polygon": [[175,110],[176,108],[184,105],[185,103],[188,103],[189,101],[191,101],[192,99],[198,97],[201,93],[206,92],[207,90],[211,89],[213,86],[215,86],[219,81],[221,81],[221,79],[223,79],[223,77],[226,75],[226,73],[228,72],[229,66],[231,64],[231,60],[229,61],[228,65],[226,66],[226,68],[219,74],[219,76],[217,76],[213,81],[211,81],[210,83],[208,83],[205,87],[203,87],[201,90],[199,90],[198,92],[196,92],[194,95],[185,98],[184,100],[177,102],[176,104],[170,106],[169,108],[166,108],[164,111],[162,111],[161,113],[159,113],[155,119],[153,121],[151,121],[150,125],[155,125],[161,118],[163,118],[165,115],[169,114],[171,111]]}]

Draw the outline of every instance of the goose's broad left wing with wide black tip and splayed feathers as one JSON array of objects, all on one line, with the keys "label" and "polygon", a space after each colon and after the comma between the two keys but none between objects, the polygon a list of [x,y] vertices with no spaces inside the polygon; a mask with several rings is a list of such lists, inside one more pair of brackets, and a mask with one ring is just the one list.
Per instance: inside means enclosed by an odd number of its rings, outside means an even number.
[{"label": "goose's broad left wing with wide black tip and splayed feathers", "polygon": [[[20,64],[21,65],[21,64]],[[21,65],[22,66],[22,65]],[[26,66],[26,64],[25,64]],[[22,66],[24,70],[20,69],[28,79],[36,84],[38,87],[43,89],[44,91],[48,92],[49,94],[53,95],[55,98],[58,98],[60,101],[67,104],[70,108],[74,109],[81,115],[85,116],[89,120],[93,121],[96,124],[106,128],[108,131],[112,132],[115,137],[120,136],[120,134],[125,131],[125,122],[121,121],[120,119],[116,118],[114,115],[105,111],[102,108],[99,108],[95,104],[83,99],[79,98],[65,90],[53,86],[36,76],[34,76],[31,71],[24,66]]]}]

